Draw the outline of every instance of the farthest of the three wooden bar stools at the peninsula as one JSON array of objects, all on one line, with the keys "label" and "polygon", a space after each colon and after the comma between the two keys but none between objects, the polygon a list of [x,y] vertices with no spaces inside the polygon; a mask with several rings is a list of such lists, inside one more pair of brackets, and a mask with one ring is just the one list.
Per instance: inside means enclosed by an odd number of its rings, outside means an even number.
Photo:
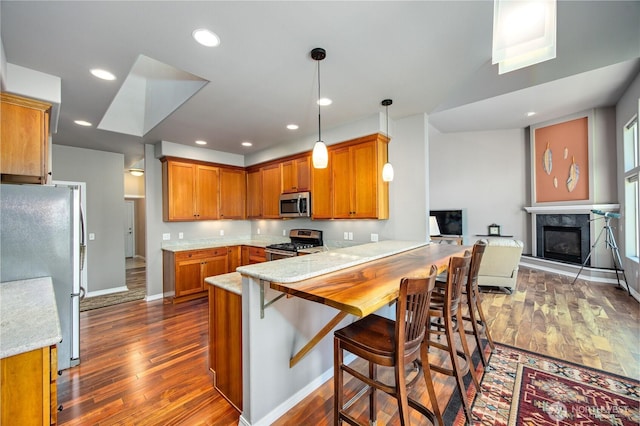
[{"label": "farthest of the three wooden bar stools at the peninsula", "polygon": [[478,271],[480,270],[480,262],[482,261],[482,255],[487,247],[487,243],[484,241],[478,241],[473,245],[473,251],[471,252],[471,265],[469,266],[469,276],[467,278],[467,285],[463,291],[463,301],[467,305],[467,315],[463,316],[463,320],[466,323],[471,324],[471,330],[465,329],[465,333],[473,335],[476,339],[478,351],[480,352],[480,360],[483,366],[487,366],[489,360],[484,353],[484,346],[482,345],[482,337],[487,339],[491,352],[495,350],[487,321],[484,317],[484,311],[482,310],[482,304],[480,300],[480,290],[478,289]]}]

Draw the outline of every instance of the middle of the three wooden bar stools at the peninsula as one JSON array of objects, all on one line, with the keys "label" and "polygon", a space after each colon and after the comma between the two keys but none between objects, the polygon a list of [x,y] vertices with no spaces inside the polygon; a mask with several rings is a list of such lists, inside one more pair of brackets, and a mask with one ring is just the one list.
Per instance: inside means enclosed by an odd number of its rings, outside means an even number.
[{"label": "middle of the three wooden bar stools at the peninsula", "polygon": [[[447,282],[444,285],[444,292],[434,291],[431,297],[431,305],[429,309],[429,327],[425,334],[425,345],[429,352],[439,349],[448,355],[451,368],[445,365],[438,365],[423,360],[423,369],[425,380],[427,382],[427,390],[429,398],[432,402],[432,408],[436,418],[442,424],[442,413],[438,407],[435,389],[431,379],[431,371],[442,373],[456,378],[456,387],[460,394],[460,399],[464,408],[465,416],[469,424],[471,421],[471,409],[467,399],[466,387],[464,385],[464,376],[471,374],[471,378],[480,392],[480,382],[473,373],[473,363],[471,354],[469,353],[469,345],[462,326],[462,314],[460,308],[460,299],[462,297],[462,288],[467,281],[469,266],[471,264],[471,253],[466,251],[463,257],[452,257],[449,259],[449,268],[447,274]],[[458,334],[462,350],[457,348],[455,342],[455,334]],[[444,336],[446,343],[440,341],[440,337]],[[434,340],[434,337],[437,340]]]}]

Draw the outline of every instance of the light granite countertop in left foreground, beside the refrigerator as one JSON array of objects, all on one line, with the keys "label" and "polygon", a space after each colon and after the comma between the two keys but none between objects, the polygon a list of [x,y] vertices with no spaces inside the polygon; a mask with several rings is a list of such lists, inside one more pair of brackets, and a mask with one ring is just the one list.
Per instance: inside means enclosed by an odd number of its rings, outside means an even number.
[{"label": "light granite countertop in left foreground, beside the refrigerator", "polygon": [[0,358],[62,340],[50,277],[0,283]]}]

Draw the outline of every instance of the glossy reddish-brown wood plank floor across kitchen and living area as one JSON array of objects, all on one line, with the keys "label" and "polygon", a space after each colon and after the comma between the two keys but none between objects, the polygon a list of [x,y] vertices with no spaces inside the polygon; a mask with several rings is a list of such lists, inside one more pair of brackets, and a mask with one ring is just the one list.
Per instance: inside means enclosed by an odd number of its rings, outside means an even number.
[{"label": "glossy reddish-brown wood plank floor across kitchen and living area", "polygon": [[[638,302],[615,286],[572,280],[521,268],[513,295],[483,293],[494,339],[640,378]],[[450,383],[437,379],[445,401]],[[332,386],[329,380],[276,424],[332,424]],[[204,299],[83,312],[81,364],[59,377],[58,400],[63,425],[236,425],[239,418],[212,387]],[[381,410],[379,424],[396,423],[392,402]]]}]

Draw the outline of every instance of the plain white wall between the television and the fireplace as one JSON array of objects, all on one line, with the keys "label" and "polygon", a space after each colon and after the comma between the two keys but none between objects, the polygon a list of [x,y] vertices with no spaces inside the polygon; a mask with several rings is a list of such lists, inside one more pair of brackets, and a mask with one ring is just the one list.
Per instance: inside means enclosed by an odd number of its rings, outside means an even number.
[{"label": "plain white wall between the television and the fireplace", "polygon": [[429,194],[432,210],[466,209],[465,243],[487,226],[525,243],[528,143],[524,129],[443,134],[429,127]]}]

